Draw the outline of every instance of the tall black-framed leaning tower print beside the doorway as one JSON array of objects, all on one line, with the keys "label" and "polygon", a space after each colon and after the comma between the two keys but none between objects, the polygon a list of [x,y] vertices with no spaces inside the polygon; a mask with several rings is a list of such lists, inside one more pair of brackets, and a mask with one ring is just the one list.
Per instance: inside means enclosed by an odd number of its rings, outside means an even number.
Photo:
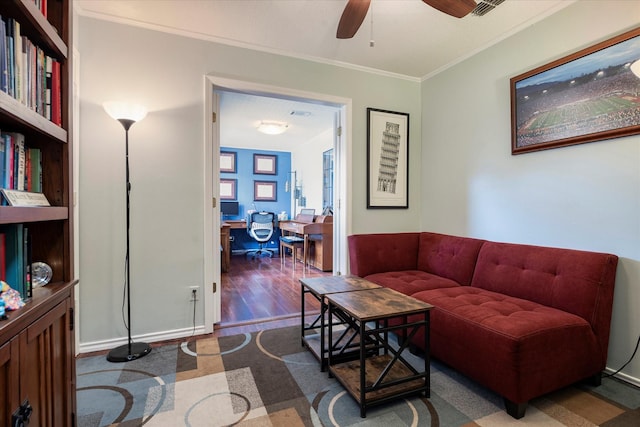
[{"label": "tall black-framed leaning tower print beside the doorway", "polygon": [[408,208],[409,114],[367,108],[367,209]]}]

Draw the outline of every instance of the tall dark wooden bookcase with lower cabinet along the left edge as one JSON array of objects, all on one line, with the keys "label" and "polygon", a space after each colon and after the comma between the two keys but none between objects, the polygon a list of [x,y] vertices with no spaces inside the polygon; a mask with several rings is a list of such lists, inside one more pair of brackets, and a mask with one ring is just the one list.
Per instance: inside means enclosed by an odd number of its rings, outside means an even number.
[{"label": "tall dark wooden bookcase with lower cabinet along the left edge", "polygon": [[[19,34],[15,40],[23,46],[32,43],[37,58],[50,58],[52,75],[59,76],[47,76],[43,84],[42,71],[38,78],[28,73],[39,85],[30,86],[16,83],[27,78],[27,73],[16,71],[13,79],[18,80],[8,81],[14,81],[20,92],[5,90],[6,80],[0,79],[0,131],[24,135],[25,145],[41,153],[41,192],[50,203],[48,207],[0,206],[0,227],[28,227],[32,260],[45,262],[53,270],[47,286],[35,289],[25,307],[8,312],[9,319],[0,321],[0,426],[12,425],[11,415],[27,399],[30,425],[75,425],[72,3],[41,2],[46,8],[39,8],[34,0],[0,1],[4,27],[11,25],[12,35]],[[43,63],[47,62],[39,62],[40,69]],[[25,69],[22,67],[24,62],[16,69]],[[48,103],[49,80],[54,96]]]}]

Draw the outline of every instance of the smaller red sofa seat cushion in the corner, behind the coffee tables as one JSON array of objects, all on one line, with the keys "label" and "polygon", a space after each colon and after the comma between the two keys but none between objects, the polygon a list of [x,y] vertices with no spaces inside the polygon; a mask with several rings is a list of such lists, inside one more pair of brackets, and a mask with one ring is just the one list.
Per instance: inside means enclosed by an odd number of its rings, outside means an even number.
[{"label": "smaller red sofa seat cushion in the corner, behind the coffee tables", "polygon": [[379,285],[413,295],[416,292],[438,288],[452,288],[460,286],[451,279],[436,276],[420,270],[390,271],[387,273],[371,274],[365,279]]}]

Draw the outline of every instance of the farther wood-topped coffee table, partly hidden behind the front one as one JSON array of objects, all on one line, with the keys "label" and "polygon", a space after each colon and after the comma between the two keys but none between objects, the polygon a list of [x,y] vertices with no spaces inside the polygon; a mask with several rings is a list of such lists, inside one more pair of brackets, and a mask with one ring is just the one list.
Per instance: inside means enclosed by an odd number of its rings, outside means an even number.
[{"label": "farther wood-topped coffee table, partly hidden behind the front one", "polygon": [[[307,347],[311,353],[320,361],[320,370],[324,371],[328,362],[328,341],[326,333],[329,323],[334,326],[344,325],[345,323],[339,319],[327,318],[326,296],[341,292],[354,292],[367,289],[380,288],[368,280],[356,276],[326,276],[316,278],[302,278],[301,285],[301,339],[302,345]],[[320,314],[311,324],[305,323],[305,295],[311,294],[320,301]],[[329,321],[329,319],[331,319]],[[319,333],[318,333],[319,329]],[[336,334],[334,341],[334,359],[349,360],[359,357],[360,343],[358,339],[354,339],[358,335],[357,331],[343,328],[340,334]]]}]

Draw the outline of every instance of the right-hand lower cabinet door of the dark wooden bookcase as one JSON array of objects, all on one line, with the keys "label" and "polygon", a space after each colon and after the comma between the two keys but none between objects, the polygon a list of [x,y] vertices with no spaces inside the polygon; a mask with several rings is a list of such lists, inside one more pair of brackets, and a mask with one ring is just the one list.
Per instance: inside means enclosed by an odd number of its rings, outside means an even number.
[{"label": "right-hand lower cabinet door of the dark wooden bookcase", "polygon": [[65,300],[20,334],[20,400],[33,407],[31,425],[73,425],[73,339]]}]

